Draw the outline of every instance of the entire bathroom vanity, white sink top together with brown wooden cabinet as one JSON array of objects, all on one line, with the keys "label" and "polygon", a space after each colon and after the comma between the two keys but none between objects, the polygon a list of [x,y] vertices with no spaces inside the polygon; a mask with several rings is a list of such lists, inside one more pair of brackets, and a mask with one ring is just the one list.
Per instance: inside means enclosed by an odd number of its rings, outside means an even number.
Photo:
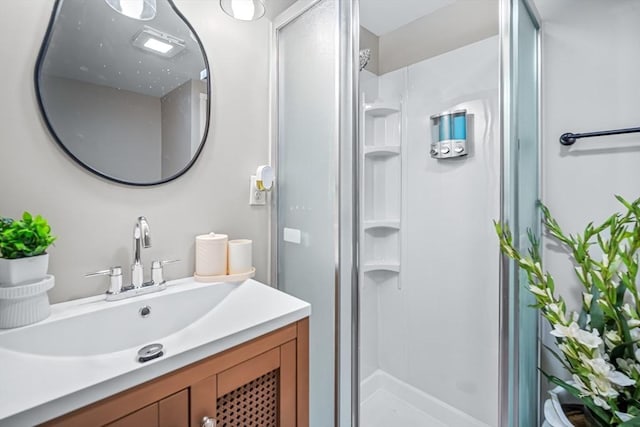
[{"label": "entire bathroom vanity, white sink top together with brown wooden cabinet", "polygon": [[[0,332],[0,426],[308,426],[304,301],[189,278],[52,311]],[[140,362],[150,343],[162,355]]]}]

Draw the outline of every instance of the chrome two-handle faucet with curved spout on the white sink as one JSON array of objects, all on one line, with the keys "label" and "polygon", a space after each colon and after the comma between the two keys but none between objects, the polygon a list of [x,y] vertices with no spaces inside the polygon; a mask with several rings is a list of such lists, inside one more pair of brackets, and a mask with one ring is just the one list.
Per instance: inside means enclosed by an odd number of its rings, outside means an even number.
[{"label": "chrome two-handle faucet with curved spout on the white sink", "polygon": [[122,285],[122,268],[120,266],[111,267],[107,270],[96,271],[86,274],[85,277],[109,276],[109,290],[107,291],[107,301],[117,301],[124,298],[135,297],[151,292],[166,289],[162,267],[165,264],[178,261],[153,261],[151,264],[151,280],[144,281],[144,270],[142,268],[142,248],[151,247],[151,232],[149,223],[143,216],[138,217],[138,221],[133,226],[133,264],[131,265],[131,284]]}]

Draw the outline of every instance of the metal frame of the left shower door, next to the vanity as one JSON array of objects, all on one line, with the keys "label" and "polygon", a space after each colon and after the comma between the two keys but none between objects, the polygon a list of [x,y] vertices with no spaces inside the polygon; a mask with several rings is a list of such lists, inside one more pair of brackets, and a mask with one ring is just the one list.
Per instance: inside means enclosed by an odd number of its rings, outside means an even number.
[{"label": "metal frame of the left shower door, next to the vanity", "polygon": [[[322,0],[298,0],[271,23],[269,89],[269,164],[278,171],[278,32]],[[335,372],[334,425],[359,425],[359,0],[338,2],[338,77],[335,114],[338,138],[334,159],[338,171],[338,203],[334,206]],[[269,205],[269,271],[278,287],[278,180]],[[313,312],[313,305],[311,307]]]}]

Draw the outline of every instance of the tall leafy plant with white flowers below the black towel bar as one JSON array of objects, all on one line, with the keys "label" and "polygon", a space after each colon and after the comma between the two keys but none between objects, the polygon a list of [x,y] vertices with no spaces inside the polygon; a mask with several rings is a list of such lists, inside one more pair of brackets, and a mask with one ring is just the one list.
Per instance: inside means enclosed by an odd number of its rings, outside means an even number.
[{"label": "tall leafy plant with white flowers below the black towel bar", "polygon": [[544,375],[589,408],[602,426],[640,426],[640,199],[616,196],[626,212],[567,235],[541,204],[543,224],[571,255],[583,287],[580,311],[568,311],[553,277],[542,267],[539,244],[522,254],[505,224],[495,223],[500,248],[526,273],[529,290],[553,330],[557,349],[547,348],[571,374]]}]

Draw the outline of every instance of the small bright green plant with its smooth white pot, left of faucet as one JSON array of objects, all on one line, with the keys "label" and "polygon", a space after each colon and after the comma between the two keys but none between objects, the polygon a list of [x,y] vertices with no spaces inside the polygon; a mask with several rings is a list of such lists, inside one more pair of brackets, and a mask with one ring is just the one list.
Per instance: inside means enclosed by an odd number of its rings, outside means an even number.
[{"label": "small bright green plant with its smooth white pot, left of faucet", "polygon": [[40,215],[24,212],[21,219],[0,219],[0,286],[15,286],[47,274],[47,248],[56,240]]}]

